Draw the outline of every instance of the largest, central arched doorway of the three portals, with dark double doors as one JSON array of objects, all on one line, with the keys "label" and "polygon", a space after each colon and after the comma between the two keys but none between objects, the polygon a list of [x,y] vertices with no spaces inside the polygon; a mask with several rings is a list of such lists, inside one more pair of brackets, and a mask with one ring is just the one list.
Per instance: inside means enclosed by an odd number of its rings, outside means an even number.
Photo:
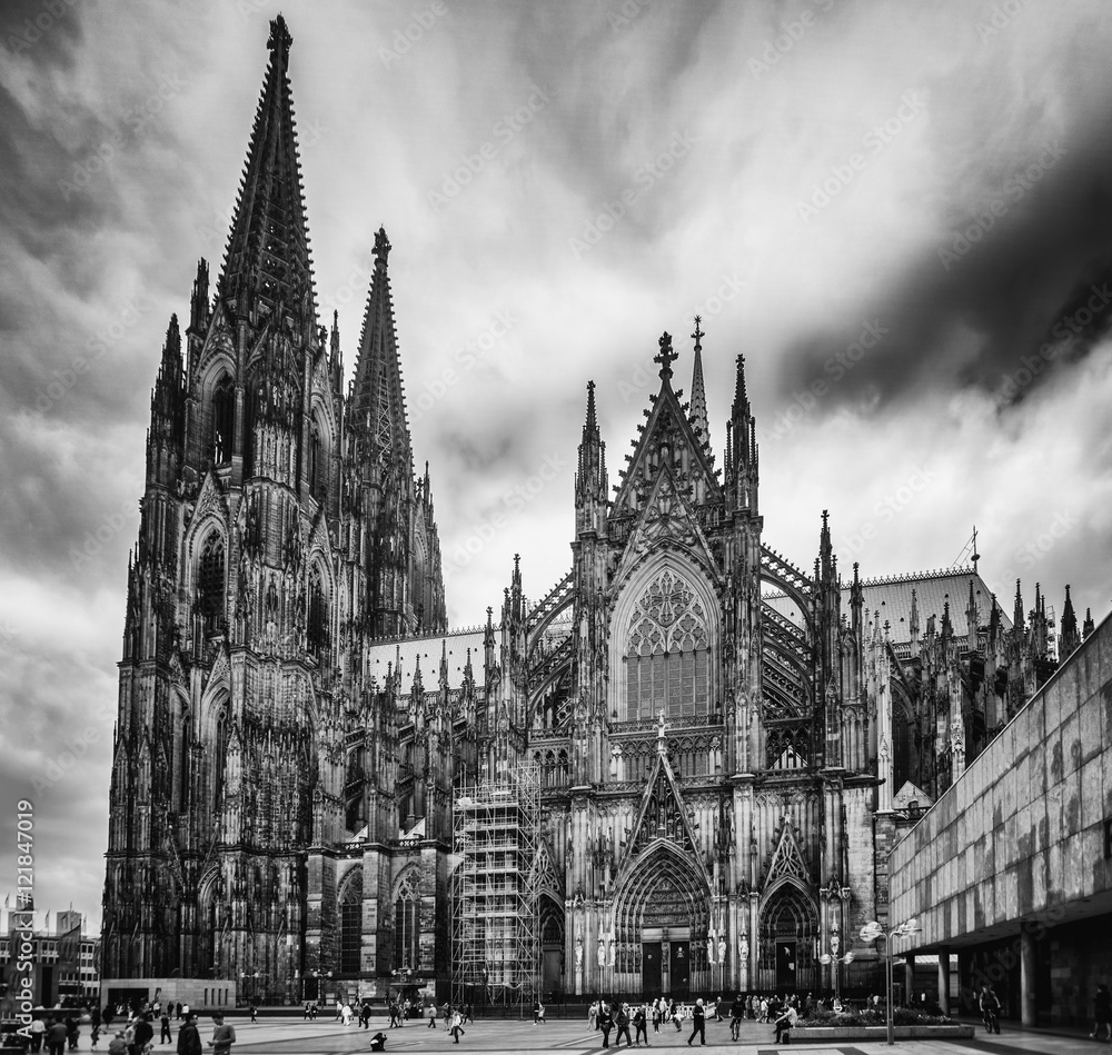
[{"label": "largest, central arched doorway of the three portals, with dark double doors", "polygon": [[615,902],[615,989],[646,996],[707,991],[709,903],[706,879],[674,843],[651,846]]}]

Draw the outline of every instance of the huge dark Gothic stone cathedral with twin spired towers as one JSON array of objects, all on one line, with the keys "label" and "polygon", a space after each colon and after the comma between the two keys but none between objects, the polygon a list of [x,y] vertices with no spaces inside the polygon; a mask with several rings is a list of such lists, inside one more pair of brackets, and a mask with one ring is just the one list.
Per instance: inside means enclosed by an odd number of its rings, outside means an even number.
[{"label": "huge dark Gothic stone cathedral with twin spired towers", "polygon": [[567,575],[530,601],[507,558],[485,625],[449,630],[385,230],[346,387],[319,325],[290,44],[279,17],[220,275],[198,265],[153,387],[102,977],[446,998],[459,804],[527,772],[540,992],[875,987],[875,949],[845,954],[901,827],[1091,619],[1068,595],[1055,638],[1019,584],[1007,618],[975,553],[843,576],[825,512],[811,568],[773,549],[744,361],[719,465],[696,319],[689,396],[665,334],[614,477],[587,385]]}]

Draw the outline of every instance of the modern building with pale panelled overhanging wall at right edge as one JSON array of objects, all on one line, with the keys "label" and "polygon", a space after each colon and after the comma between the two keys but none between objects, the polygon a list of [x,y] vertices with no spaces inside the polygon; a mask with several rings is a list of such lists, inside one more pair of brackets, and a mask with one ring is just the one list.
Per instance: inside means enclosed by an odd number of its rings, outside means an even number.
[{"label": "modern building with pale panelled overhanging wall at right edge", "polygon": [[1083,1018],[1101,981],[1083,977],[1096,966],[1085,935],[1112,924],[1110,748],[1112,617],[896,845],[890,922],[922,927],[896,951],[1019,948],[1023,932],[1053,952],[1039,1002],[1056,1019]]}]

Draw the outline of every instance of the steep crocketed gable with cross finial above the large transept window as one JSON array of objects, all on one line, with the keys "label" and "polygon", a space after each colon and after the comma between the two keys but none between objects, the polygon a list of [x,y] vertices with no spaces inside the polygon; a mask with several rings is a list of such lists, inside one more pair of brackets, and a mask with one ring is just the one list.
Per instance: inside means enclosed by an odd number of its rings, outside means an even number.
[{"label": "steep crocketed gable with cross finial above the large transept window", "polygon": [[[702,336],[702,335],[701,335]],[[679,396],[672,389],[672,337],[659,340],[661,390],[653,398],[648,421],[642,427],[641,439],[634,442],[634,454],[622,474],[622,482],[612,507],[612,516],[639,512],[656,488],[664,471],[671,471],[676,490],[687,501],[701,505],[721,497],[715,478],[714,456],[707,440],[696,435]]]}]

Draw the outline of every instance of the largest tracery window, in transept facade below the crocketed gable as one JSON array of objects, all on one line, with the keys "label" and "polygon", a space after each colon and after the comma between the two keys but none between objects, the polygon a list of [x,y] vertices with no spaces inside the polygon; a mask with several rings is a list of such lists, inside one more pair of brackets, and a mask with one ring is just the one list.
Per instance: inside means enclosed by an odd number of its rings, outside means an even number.
[{"label": "largest tracery window, in transept facade below the crocketed gable", "polygon": [[711,649],[703,601],[663,569],[637,601],[626,639],[626,716],[709,713]]}]

